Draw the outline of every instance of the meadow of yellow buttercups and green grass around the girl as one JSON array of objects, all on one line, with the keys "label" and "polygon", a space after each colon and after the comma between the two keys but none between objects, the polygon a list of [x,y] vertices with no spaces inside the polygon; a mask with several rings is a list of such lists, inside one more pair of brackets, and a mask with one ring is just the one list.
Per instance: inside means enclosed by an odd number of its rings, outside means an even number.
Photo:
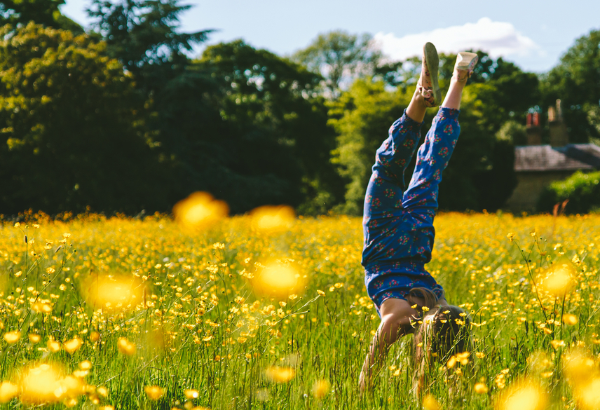
[{"label": "meadow of yellow buttercups and green grass around the girl", "polygon": [[5,220],[0,408],[600,409],[599,226],[437,216],[427,267],[472,339],[416,397],[412,336],[358,390],[379,324],[359,218]]}]

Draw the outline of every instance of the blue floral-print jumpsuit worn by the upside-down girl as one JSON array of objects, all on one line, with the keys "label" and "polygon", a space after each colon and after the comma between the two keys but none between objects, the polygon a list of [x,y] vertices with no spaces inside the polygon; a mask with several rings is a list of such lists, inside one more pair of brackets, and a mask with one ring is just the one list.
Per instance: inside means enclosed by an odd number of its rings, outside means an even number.
[{"label": "blue floral-print jumpsuit worn by the upside-down girl", "polygon": [[408,188],[404,171],[423,123],[404,111],[377,150],[364,197],[362,266],[364,285],[378,312],[383,301],[406,299],[414,287],[430,289],[438,299],[444,296],[425,264],[431,260],[439,182],[461,132],[458,113],[458,109],[439,109],[418,149]]}]

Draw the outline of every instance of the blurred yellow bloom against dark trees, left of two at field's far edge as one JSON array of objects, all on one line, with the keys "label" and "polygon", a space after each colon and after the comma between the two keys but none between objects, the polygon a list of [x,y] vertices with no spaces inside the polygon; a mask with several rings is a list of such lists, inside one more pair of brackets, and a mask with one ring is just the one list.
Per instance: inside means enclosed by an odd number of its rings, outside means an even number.
[{"label": "blurred yellow bloom against dark trees, left of two at field's far edge", "polygon": [[195,192],[173,207],[175,221],[186,231],[209,228],[229,213],[229,206],[210,193]]}]

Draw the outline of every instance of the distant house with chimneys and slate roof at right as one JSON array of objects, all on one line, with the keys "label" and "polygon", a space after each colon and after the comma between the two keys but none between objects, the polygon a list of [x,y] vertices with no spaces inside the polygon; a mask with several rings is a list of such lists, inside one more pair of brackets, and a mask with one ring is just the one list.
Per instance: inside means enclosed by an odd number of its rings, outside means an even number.
[{"label": "distant house with chimneys and slate roof at right", "polygon": [[535,210],[545,186],[569,177],[577,170],[600,169],[600,146],[569,144],[561,102],[549,107],[550,145],[542,145],[538,113],[527,114],[527,145],[514,147],[517,187],[506,202],[512,212]]}]

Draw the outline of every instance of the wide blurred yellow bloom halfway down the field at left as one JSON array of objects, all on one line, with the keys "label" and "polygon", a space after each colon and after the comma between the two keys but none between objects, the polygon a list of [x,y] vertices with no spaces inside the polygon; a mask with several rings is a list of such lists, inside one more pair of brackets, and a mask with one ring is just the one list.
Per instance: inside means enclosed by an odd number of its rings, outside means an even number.
[{"label": "wide blurred yellow bloom halfway down the field at left", "polygon": [[142,303],[144,287],[136,278],[113,275],[93,278],[84,287],[86,300],[95,309],[121,310]]}]

